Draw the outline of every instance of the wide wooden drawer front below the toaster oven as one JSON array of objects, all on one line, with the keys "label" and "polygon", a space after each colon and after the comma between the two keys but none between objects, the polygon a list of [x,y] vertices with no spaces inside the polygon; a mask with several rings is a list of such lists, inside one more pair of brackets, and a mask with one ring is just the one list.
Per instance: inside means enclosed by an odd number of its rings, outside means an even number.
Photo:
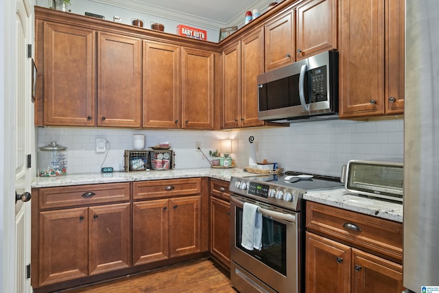
[{"label": "wide wooden drawer front below the toaster oven", "polygon": [[307,202],[308,231],[401,263],[403,225],[325,204]]}]

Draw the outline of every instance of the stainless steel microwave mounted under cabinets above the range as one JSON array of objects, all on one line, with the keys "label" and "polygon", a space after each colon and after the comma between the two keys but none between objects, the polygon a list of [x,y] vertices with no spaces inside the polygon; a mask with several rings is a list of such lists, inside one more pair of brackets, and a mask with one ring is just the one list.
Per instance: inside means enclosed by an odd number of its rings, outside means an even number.
[{"label": "stainless steel microwave mounted under cabinets above the range", "polygon": [[258,75],[260,120],[338,118],[338,52],[325,51]]}]

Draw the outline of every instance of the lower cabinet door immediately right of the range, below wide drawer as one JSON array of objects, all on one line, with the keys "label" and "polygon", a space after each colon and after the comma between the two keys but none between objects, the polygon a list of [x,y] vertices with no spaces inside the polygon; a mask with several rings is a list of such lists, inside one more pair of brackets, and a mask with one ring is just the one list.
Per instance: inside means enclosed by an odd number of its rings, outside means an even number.
[{"label": "lower cabinet door immediately right of the range, below wide drawer", "polygon": [[309,232],[305,241],[306,292],[351,292],[351,248]]}]

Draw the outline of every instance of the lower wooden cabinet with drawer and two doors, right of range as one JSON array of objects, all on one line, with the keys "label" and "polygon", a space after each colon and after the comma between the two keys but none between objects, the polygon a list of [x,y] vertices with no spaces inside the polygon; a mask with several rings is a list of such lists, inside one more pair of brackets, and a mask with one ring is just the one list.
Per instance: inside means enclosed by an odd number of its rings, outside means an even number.
[{"label": "lower wooden cabinet with drawer and two doors, right of range", "polygon": [[307,202],[306,218],[307,293],[403,292],[401,223],[315,202]]}]

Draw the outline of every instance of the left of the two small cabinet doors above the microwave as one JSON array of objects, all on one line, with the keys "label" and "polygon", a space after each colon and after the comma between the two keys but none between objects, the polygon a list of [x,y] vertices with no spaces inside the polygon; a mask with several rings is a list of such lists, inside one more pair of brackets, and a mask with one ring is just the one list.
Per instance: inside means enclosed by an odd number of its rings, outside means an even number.
[{"label": "left of the two small cabinet doors above the microwave", "polygon": [[294,62],[294,19],[287,12],[265,25],[265,71]]}]

